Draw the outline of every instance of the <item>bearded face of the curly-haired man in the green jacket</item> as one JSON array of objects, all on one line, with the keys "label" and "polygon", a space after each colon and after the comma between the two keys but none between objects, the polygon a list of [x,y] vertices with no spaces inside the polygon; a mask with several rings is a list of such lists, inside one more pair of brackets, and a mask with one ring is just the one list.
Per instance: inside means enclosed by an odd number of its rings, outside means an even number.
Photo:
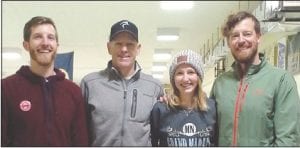
[{"label": "bearded face of the curly-haired man in the green jacket", "polygon": [[227,38],[228,46],[239,63],[254,63],[258,59],[260,34],[256,33],[254,21],[246,18],[237,23]]}]

